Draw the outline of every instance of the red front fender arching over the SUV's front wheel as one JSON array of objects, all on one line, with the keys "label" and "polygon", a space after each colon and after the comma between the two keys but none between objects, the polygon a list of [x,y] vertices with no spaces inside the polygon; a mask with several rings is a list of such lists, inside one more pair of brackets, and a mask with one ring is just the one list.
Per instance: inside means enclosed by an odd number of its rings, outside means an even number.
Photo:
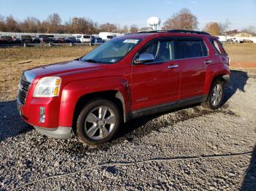
[{"label": "red front fender arching over the SUV's front wheel", "polygon": [[89,93],[102,93],[116,90],[116,98],[121,100],[124,111],[124,121],[131,109],[129,82],[122,77],[104,77],[83,79],[70,82],[64,86],[61,93],[59,126],[72,126],[73,114],[78,100]]}]

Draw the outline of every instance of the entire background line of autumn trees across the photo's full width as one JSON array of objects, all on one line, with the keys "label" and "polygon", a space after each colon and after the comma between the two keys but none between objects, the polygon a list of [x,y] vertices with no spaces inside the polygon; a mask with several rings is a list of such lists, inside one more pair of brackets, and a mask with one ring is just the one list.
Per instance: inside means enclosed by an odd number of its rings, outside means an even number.
[{"label": "entire background line of autumn trees across the photo's full width", "polygon": [[[197,30],[198,20],[196,15],[190,12],[189,9],[181,9],[179,12],[174,13],[171,17],[165,20],[162,29],[186,29]],[[207,31],[211,35],[228,34],[232,31],[227,31],[230,27],[230,21],[225,23],[210,22],[206,23],[203,31]],[[18,22],[12,15],[3,17],[0,15],[0,31],[7,32],[27,32],[27,33],[53,33],[53,34],[99,34],[99,32],[117,32],[117,33],[136,33],[138,26],[119,26],[113,23],[100,24],[86,17],[72,17],[62,24],[61,17],[57,13],[48,16],[46,20],[40,21],[35,17],[27,17],[25,20]],[[242,30],[255,35],[255,27],[249,26]]]}]

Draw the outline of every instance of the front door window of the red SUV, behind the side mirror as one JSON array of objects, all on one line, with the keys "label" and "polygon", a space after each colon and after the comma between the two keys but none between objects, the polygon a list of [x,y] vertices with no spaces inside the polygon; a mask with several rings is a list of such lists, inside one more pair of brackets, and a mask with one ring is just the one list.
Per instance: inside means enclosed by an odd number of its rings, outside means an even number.
[{"label": "front door window of the red SUV, behind the side mirror", "polygon": [[142,53],[154,55],[154,62],[170,61],[174,59],[174,44],[173,41],[157,41],[148,45]]}]

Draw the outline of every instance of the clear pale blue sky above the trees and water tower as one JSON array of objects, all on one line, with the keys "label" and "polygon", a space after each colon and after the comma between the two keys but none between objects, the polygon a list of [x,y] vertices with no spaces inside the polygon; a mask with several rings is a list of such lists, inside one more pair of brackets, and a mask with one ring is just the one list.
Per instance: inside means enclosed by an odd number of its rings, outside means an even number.
[{"label": "clear pale blue sky above the trees and water tower", "polygon": [[[8,8],[10,7],[10,8]],[[146,26],[148,17],[157,16],[162,23],[182,8],[197,16],[199,29],[208,22],[229,20],[230,29],[256,27],[256,0],[0,0],[0,15],[12,15],[22,21],[26,17],[45,20],[58,13],[64,21],[72,17],[88,17],[94,22],[120,26]]]}]

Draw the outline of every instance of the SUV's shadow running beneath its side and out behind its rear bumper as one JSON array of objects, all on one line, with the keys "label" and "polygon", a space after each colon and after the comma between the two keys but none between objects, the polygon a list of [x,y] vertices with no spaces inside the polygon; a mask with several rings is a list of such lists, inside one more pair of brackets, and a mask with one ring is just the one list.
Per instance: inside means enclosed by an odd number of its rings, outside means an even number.
[{"label": "SUV's shadow running beneath its side and out behind its rear bumper", "polygon": [[[230,71],[230,80],[232,82],[232,85],[230,87],[225,87],[225,98],[224,98],[224,104],[221,109],[218,110],[208,110],[208,109],[198,109],[200,104],[194,104],[190,106],[184,106],[178,109],[169,110],[167,112],[162,112],[159,114],[152,114],[144,117],[139,117],[136,119],[133,119],[126,124],[123,125],[121,130],[118,131],[118,134],[116,136],[116,139],[119,139],[123,136],[127,137],[127,140],[132,141],[131,136],[129,136],[130,133],[132,133],[134,130],[137,131],[140,136],[146,135],[147,133],[150,133],[152,130],[159,130],[162,127],[166,127],[167,125],[173,125],[176,122],[189,120],[191,118],[200,117],[206,114],[216,113],[216,112],[222,112],[225,114],[232,114],[236,115],[234,112],[227,109],[227,101],[236,93],[237,90],[241,90],[242,92],[245,92],[244,87],[246,85],[247,80],[249,79],[247,72],[245,71],[238,71],[238,70],[231,70]],[[193,108],[194,112],[187,112],[185,109]],[[224,110],[225,109],[225,110]],[[154,123],[154,119],[157,117],[160,117],[162,114],[168,114],[170,112],[176,112],[178,115],[178,118],[174,121],[170,120],[161,120],[156,123]],[[151,122],[151,125],[146,125],[148,122]],[[144,125],[146,125],[146,128],[142,128]]]}]

